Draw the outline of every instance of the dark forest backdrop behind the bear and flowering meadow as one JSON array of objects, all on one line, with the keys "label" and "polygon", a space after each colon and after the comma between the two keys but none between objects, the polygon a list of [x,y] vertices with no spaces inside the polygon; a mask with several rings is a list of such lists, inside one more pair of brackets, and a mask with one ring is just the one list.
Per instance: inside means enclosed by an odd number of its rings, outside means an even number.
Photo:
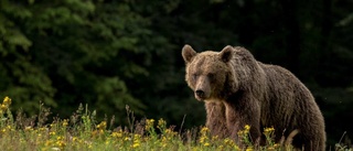
[{"label": "dark forest backdrop behind the bear and flowering meadow", "polygon": [[0,98],[62,118],[79,104],[126,125],[163,118],[203,125],[181,48],[248,48],[313,93],[328,143],[353,138],[352,0],[0,0]]}]

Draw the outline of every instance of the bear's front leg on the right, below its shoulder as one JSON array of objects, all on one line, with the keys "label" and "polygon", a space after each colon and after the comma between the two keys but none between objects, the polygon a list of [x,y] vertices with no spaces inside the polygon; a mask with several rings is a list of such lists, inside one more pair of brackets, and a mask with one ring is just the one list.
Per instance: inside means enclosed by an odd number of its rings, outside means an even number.
[{"label": "bear's front leg on the right, below its shoulder", "polygon": [[[239,103],[239,101],[238,101]],[[224,103],[226,108],[226,121],[232,139],[239,147],[243,145],[243,138],[238,136],[240,130],[245,130],[245,126],[249,126],[249,139],[253,144],[260,142],[260,110],[256,105]]]}]

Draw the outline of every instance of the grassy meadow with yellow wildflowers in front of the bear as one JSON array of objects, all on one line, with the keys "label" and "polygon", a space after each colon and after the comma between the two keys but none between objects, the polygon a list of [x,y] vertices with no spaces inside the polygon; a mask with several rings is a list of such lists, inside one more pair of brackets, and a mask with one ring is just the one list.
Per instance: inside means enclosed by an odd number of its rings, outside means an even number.
[{"label": "grassy meadow with yellow wildflowers in front of the bear", "polygon": [[[128,127],[114,127],[114,118],[96,120],[96,112],[81,105],[69,119],[49,119],[50,109],[41,105],[38,116],[25,117],[19,111],[10,111],[11,99],[6,97],[0,108],[0,147],[7,151],[113,151],[113,150],[182,150],[182,151],[277,151],[292,150],[285,143],[271,139],[274,128],[266,128],[267,144],[255,145],[248,137],[249,126],[239,131],[245,147],[231,139],[210,136],[205,127],[175,131],[163,119],[136,121],[133,112],[127,108]],[[52,121],[52,122],[47,122]],[[341,145],[335,150],[347,151]]]}]

